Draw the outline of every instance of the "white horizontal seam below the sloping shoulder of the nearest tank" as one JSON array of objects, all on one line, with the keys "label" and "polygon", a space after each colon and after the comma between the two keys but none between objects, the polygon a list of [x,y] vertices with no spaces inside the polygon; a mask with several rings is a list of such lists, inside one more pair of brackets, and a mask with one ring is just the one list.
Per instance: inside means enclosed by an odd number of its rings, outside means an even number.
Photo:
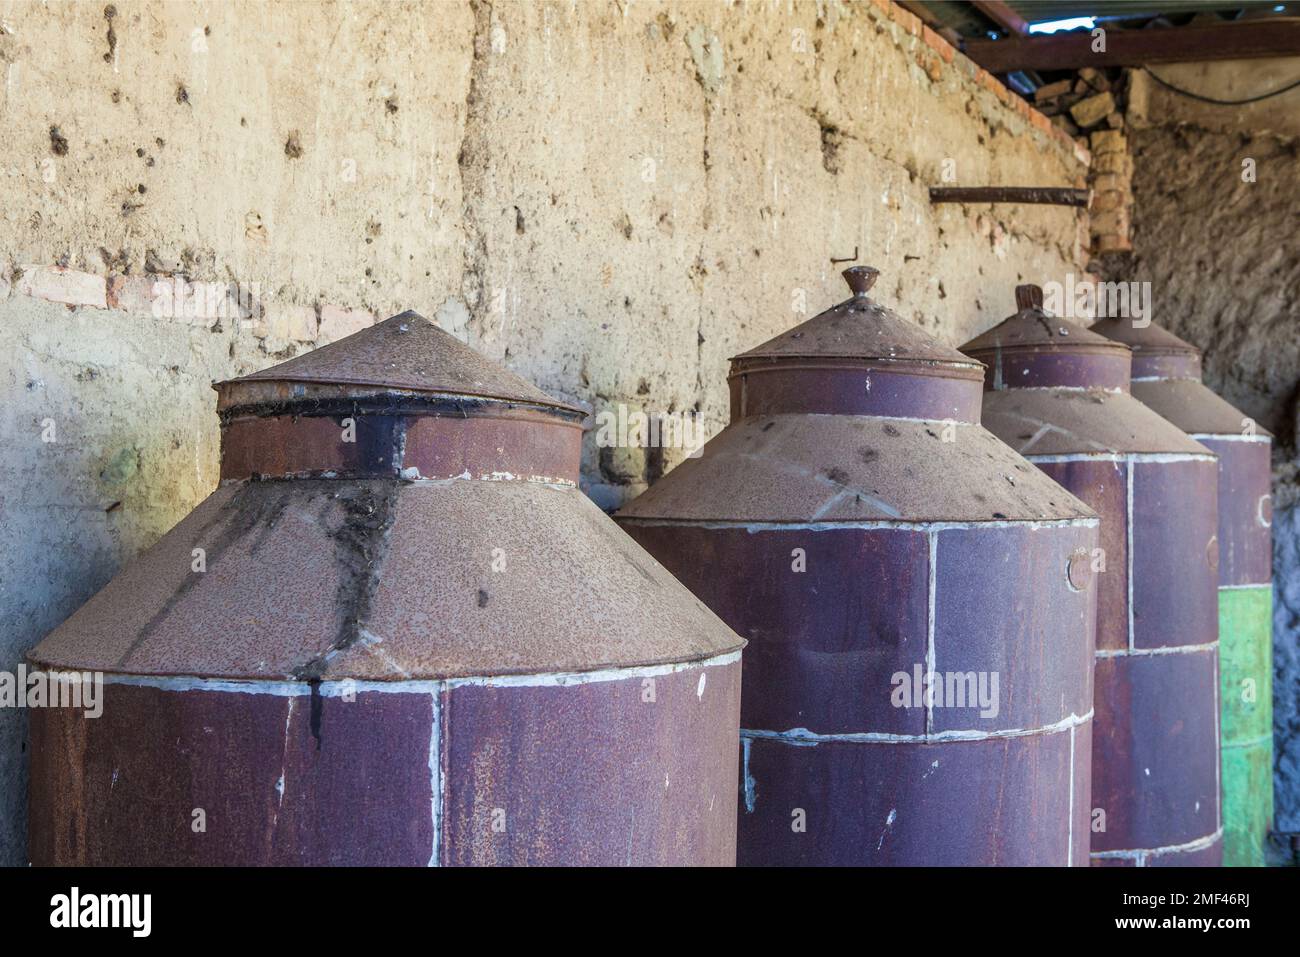
[{"label": "white horizontal seam below the sloping shoulder of the nearest tank", "polygon": [[[404,681],[373,681],[360,679],[322,679],[317,684],[321,697],[338,698],[346,694],[380,692],[387,694],[434,694],[455,688],[568,688],[599,681],[621,681],[629,677],[659,677],[692,668],[710,668],[733,664],[740,661],[740,651],[727,651],[712,658],[697,658],[689,662],[670,662],[667,664],[641,664],[629,668],[599,668],[595,671],[555,671],[538,675],[469,675],[465,677],[412,679]],[[81,675],[65,668],[47,668],[48,675]],[[235,694],[277,694],[295,697],[312,693],[311,681],[283,679],[229,679],[198,677],[194,675],[127,675],[104,672],[104,684],[125,684],[139,688],[159,688],[172,692],[229,692]]]}]

